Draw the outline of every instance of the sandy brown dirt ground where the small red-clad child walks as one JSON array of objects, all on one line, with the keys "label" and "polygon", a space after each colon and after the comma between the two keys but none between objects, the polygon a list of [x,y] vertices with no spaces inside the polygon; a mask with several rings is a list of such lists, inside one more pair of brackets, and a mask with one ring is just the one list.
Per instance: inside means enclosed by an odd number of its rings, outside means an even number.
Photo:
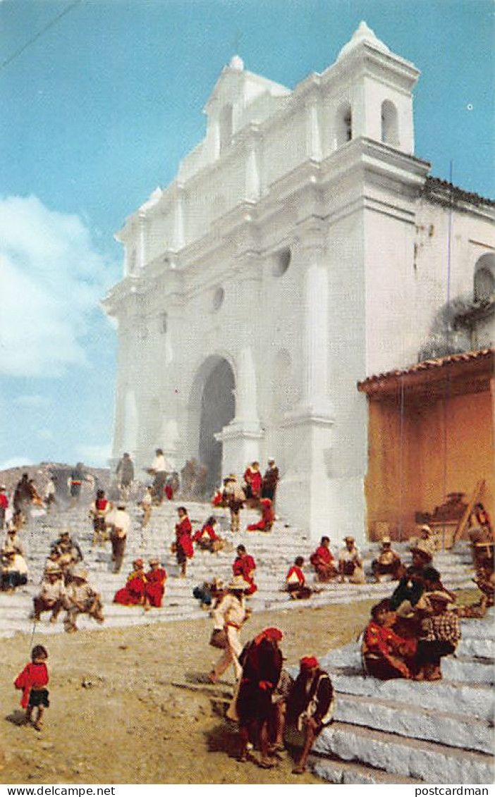
[{"label": "sandy brown dirt ground where the small red-clad child walks", "polygon": [[[278,626],[285,634],[288,663],[297,664],[304,654],[323,655],[356,638],[369,606],[255,614],[242,640]],[[290,756],[269,771],[238,763],[237,729],[221,716],[229,686],[200,685],[221,655],[208,646],[211,627],[205,617],[72,636],[36,635],[33,643],[49,651],[51,705],[41,732],[20,724],[21,693],[12,685],[29,661],[30,639],[18,634],[2,640],[0,782],[321,783],[309,773],[292,775]],[[232,677],[230,668],[226,678]]]}]

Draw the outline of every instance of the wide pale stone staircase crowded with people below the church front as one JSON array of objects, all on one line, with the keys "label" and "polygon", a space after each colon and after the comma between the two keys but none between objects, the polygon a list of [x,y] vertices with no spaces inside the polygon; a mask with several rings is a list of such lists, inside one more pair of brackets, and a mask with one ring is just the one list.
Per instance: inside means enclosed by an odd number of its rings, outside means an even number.
[{"label": "wide pale stone staircase crowded with people below the church front", "polygon": [[[194,553],[194,558],[187,567],[187,579],[179,578],[179,568],[175,556],[171,554],[171,542],[175,539],[175,523],[177,521],[176,507],[178,502],[163,504],[154,508],[151,522],[145,529],[143,539],[139,528],[140,510],[131,506],[129,511],[133,518],[133,530],[128,537],[126,555],[122,571],[112,573],[111,549],[108,542],[104,548],[92,547],[92,524],[88,520],[88,509],[84,505],[77,508],[57,508],[49,515],[33,517],[26,528],[22,530],[21,538],[26,552],[29,567],[29,583],[26,587],[18,589],[13,595],[0,593],[0,636],[14,634],[18,631],[30,632],[32,622],[29,621],[29,612],[32,608],[32,597],[36,594],[41,582],[41,575],[45,558],[49,552],[49,544],[58,534],[68,528],[81,545],[84,553],[84,567],[89,571],[89,583],[100,592],[104,603],[105,622],[97,626],[87,617],[81,617],[78,625],[84,628],[105,628],[115,626],[134,626],[155,622],[171,622],[188,618],[200,618],[205,615],[199,607],[198,601],[192,596],[193,588],[214,576],[230,580],[232,563],[235,558],[235,548],[241,542],[246,545],[249,553],[254,556],[257,563],[256,582],[258,591],[252,596],[250,605],[253,611],[262,611],[283,607],[292,609],[308,605],[301,604],[289,598],[283,591],[285,575],[293,559],[304,556],[308,583],[313,582],[312,568],[309,565],[309,556],[316,547],[315,542],[297,528],[291,528],[282,520],[277,520],[273,531],[269,534],[263,532],[242,531],[239,534],[230,533],[228,512],[219,509],[214,512],[218,517],[220,533],[225,537],[226,550],[211,555],[209,552]],[[206,517],[212,513],[210,505],[187,502],[189,516],[194,530],[200,528]],[[242,528],[258,519],[257,512],[246,510],[242,512]],[[336,554],[342,547],[341,540],[334,540],[332,550]],[[402,552],[405,561],[408,561],[407,546],[395,546]],[[370,575],[371,559],[376,554],[376,546],[363,552],[365,569]],[[125,583],[126,575],[132,569],[132,560],[137,556],[143,559],[152,555],[159,555],[166,567],[168,579],[167,590],[163,599],[163,607],[152,609],[145,613],[140,607],[124,607],[112,603],[117,589]],[[460,547],[455,552],[438,552],[434,564],[442,572],[446,587],[457,590],[462,587],[473,586],[471,578],[471,558],[467,547]],[[366,585],[353,584],[319,584],[320,592],[312,596],[310,605],[313,607],[324,606],[331,603],[352,603],[359,600],[379,600],[391,594],[390,583],[367,583]],[[59,621],[50,625],[49,614],[37,624],[38,633],[53,634],[63,628]]]}]

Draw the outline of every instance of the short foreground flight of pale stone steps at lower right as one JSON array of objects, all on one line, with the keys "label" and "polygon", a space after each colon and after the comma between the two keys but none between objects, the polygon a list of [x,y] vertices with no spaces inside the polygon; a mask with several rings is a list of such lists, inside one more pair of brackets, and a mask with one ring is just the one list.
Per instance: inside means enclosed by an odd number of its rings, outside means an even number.
[{"label": "short foreground flight of pale stone steps at lower right", "polygon": [[334,723],[312,767],[331,783],[493,783],[493,614],[462,621],[442,681],[365,677],[359,646],[320,661],[336,689]]}]

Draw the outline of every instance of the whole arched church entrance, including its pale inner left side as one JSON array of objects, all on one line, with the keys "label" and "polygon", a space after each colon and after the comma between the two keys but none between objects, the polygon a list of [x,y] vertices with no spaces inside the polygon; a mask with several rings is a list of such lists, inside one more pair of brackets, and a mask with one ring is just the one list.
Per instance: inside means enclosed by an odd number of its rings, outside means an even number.
[{"label": "whole arched church entrance, including its pale inner left side", "polygon": [[[192,456],[206,467],[206,491],[222,477],[222,443],[215,438],[235,415],[235,377],[229,361],[211,355],[198,369],[191,392]],[[194,434],[195,433],[195,434]]]}]

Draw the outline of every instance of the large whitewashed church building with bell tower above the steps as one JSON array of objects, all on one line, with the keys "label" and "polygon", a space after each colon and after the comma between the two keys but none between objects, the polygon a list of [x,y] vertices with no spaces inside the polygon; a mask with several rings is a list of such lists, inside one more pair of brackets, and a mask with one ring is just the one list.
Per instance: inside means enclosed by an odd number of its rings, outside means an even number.
[{"label": "large whitewashed church building with bell tower above the steps", "polygon": [[[448,298],[495,285],[493,202],[414,155],[418,74],[364,23],[293,90],[222,70],[205,138],[117,235],[116,459],[160,446],[213,486],[274,457],[277,512],[363,540],[356,384],[418,362]],[[492,345],[493,318],[469,334]]]}]

